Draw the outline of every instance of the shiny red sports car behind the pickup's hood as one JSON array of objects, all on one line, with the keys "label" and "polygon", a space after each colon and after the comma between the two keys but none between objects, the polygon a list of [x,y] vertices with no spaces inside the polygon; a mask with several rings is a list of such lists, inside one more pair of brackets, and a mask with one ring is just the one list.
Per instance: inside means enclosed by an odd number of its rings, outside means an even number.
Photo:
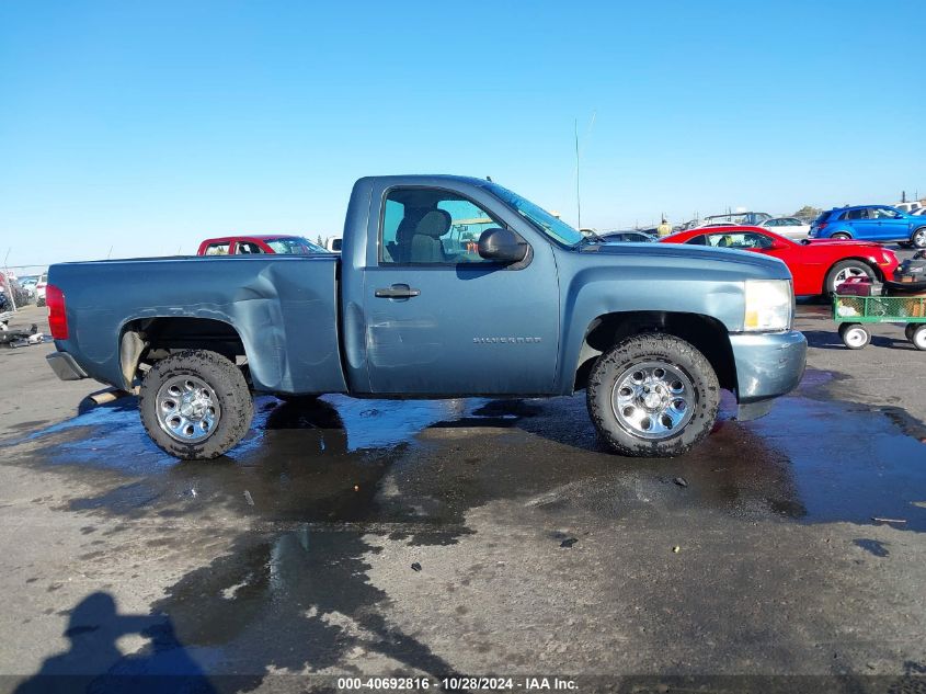
[{"label": "shiny red sports car behind the pickup's hood", "polygon": [[792,241],[759,227],[710,227],[679,231],[660,243],[691,243],[753,251],[782,260],[794,277],[794,294],[828,295],[854,276],[892,280],[898,257],[878,243],[867,241]]}]

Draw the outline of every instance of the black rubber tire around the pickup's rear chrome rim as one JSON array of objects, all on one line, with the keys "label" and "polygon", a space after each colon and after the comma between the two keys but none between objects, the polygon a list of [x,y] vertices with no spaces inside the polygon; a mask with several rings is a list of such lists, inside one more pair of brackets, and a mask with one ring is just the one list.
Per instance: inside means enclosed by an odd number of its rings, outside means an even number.
[{"label": "black rubber tire around the pickup's rear chrome rim", "polygon": [[[195,442],[172,436],[158,418],[159,391],[182,376],[206,384],[218,403],[212,431]],[[148,371],[139,389],[138,409],[145,430],[161,450],[183,460],[196,460],[218,457],[241,441],[254,417],[254,400],[241,369],[229,360],[207,350],[185,350],[156,362]]]}]

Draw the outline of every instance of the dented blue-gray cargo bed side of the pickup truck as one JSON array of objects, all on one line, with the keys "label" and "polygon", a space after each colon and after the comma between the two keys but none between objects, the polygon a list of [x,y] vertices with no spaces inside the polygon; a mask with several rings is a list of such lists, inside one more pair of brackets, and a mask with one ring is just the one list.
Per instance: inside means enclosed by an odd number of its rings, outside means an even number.
[{"label": "dented blue-gray cargo bed side of the pickup truck", "polygon": [[331,254],[266,254],[54,265],[48,282],[65,294],[69,326],[68,339],[56,344],[89,376],[127,388],[132,374],[114,349],[127,330],[199,319],[190,325],[237,332],[255,390],[343,391],[339,262]]}]

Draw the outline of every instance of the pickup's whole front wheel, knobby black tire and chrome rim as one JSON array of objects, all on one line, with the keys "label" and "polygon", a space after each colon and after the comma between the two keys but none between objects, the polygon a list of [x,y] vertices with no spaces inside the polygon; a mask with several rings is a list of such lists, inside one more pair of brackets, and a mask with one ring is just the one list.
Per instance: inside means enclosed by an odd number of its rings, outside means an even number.
[{"label": "pickup's whole front wheel, knobby black tire and chrome rim", "polygon": [[615,451],[672,457],[710,433],[720,385],[710,362],[691,344],[645,333],[598,357],[586,398],[595,429]]}]

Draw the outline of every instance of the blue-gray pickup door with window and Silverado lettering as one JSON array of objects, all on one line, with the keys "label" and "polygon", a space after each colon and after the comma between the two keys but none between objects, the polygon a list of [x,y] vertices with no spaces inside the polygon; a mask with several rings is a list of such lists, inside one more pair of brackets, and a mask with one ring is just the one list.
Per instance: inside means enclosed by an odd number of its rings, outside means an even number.
[{"label": "blue-gray pickup door with window and Silverado lettering", "polygon": [[459,193],[393,187],[364,276],[370,391],[541,395],[553,391],[559,287],[547,242],[517,265],[480,258],[500,217]]}]

